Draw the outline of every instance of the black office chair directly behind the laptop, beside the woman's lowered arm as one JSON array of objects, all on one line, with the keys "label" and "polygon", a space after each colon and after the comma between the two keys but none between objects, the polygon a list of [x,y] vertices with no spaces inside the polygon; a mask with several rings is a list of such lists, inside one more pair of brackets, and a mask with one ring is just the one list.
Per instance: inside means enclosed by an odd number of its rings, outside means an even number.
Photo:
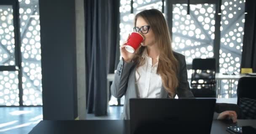
[{"label": "black office chair directly behind the laptop, beside the woman's lowered arm", "polygon": [[195,98],[216,98],[215,59],[193,59],[192,70],[191,91]]}]

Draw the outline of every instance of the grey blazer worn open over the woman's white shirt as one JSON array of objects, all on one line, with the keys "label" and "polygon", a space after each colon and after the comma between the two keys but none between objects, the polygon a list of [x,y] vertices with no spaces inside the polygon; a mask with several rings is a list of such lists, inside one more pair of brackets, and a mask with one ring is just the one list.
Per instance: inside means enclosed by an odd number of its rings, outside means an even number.
[{"label": "grey blazer worn open over the woman's white shirt", "polygon": [[[173,52],[173,54],[179,61],[179,72],[177,73],[179,87],[176,88],[176,94],[179,98],[193,98],[194,95],[192,94],[189,82],[187,81],[187,64],[185,56],[176,52]],[[114,97],[121,98],[125,95],[125,103],[121,119],[130,119],[129,99],[139,98],[138,89],[135,84],[135,71],[136,64],[134,62],[126,63],[121,59],[117,65],[115,78],[111,85],[111,93]],[[160,90],[160,98],[169,98],[168,92],[166,92],[163,86]]]}]

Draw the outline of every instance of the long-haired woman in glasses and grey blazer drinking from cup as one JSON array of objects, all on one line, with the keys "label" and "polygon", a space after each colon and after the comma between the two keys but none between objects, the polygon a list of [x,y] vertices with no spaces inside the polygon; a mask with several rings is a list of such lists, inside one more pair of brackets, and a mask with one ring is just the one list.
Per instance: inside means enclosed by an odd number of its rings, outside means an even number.
[{"label": "long-haired woman in glasses and grey blazer drinking from cup", "polygon": [[[111,85],[114,97],[125,95],[122,119],[130,119],[130,98],[194,97],[187,81],[185,57],[173,52],[163,14],[156,9],[144,10],[135,16],[134,25],[133,31],[141,33],[144,41],[134,53],[125,50],[127,41],[120,47],[123,58]],[[237,119],[235,111],[217,115],[218,119],[228,117],[234,122]]]}]

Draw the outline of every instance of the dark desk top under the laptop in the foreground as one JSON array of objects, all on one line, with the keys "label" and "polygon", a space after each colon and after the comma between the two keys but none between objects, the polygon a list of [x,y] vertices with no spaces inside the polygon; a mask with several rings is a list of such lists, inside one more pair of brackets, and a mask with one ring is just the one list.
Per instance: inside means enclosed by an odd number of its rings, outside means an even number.
[{"label": "dark desk top under the laptop in the foreground", "polygon": [[[238,126],[256,127],[256,120],[238,120]],[[214,120],[211,134],[229,134],[231,121]],[[195,128],[196,129],[196,128]],[[128,120],[40,121],[29,134],[130,134]]]}]

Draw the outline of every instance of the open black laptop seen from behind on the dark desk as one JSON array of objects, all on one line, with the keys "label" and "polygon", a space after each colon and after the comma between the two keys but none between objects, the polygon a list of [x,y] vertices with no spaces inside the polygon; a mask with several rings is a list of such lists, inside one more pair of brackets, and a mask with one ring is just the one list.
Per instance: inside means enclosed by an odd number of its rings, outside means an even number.
[{"label": "open black laptop seen from behind on the dark desk", "polygon": [[131,134],[210,134],[215,98],[131,98]]}]

